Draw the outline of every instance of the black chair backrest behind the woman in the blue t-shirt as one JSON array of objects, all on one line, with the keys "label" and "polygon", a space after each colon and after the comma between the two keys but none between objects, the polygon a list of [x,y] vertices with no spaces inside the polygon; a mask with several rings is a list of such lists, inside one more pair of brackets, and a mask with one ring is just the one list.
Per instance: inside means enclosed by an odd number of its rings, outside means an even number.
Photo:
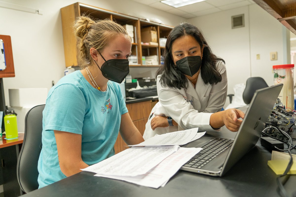
[{"label": "black chair backrest behind the woman in the blue t-shirt", "polygon": [[17,180],[25,193],[38,189],[38,159],[42,148],[42,112],[45,105],[30,109],[25,117],[25,135],[17,160]]}]

